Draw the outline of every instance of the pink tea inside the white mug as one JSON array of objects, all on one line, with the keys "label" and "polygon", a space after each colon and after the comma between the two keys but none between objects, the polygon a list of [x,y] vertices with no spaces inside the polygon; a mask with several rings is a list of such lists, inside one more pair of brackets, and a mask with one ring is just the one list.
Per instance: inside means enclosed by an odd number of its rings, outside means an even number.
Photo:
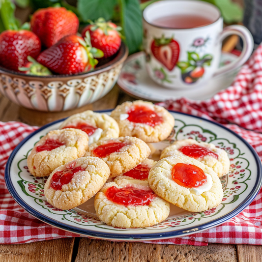
[{"label": "pink tea inside the white mug", "polygon": [[196,14],[176,14],[157,18],[153,24],[165,28],[187,29],[204,27],[213,22],[211,19]]}]

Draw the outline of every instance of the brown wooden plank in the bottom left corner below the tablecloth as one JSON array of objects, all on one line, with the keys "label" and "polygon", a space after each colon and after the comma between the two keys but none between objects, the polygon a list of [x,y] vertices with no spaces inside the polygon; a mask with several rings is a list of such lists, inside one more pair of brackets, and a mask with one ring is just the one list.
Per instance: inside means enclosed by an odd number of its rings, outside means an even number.
[{"label": "brown wooden plank in the bottom left corner below the tablecloth", "polygon": [[1,262],[71,262],[74,238],[0,245]]}]

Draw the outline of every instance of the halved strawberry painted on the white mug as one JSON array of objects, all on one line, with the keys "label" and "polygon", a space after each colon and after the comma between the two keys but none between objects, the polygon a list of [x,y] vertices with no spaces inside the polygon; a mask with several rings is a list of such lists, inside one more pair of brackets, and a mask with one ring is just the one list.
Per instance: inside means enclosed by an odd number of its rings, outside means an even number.
[{"label": "halved strawberry painted on the white mug", "polygon": [[169,71],[172,71],[179,58],[179,45],[171,38],[155,38],[151,44],[154,57]]}]

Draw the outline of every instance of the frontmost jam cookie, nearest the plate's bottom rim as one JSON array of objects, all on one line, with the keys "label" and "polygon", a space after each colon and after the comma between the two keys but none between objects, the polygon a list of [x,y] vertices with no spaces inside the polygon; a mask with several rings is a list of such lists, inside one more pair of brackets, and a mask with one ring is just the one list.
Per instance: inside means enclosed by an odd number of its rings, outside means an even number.
[{"label": "frontmost jam cookie, nearest the plate's bottom rim", "polygon": [[118,228],[144,228],[165,220],[169,203],[159,198],[146,181],[120,179],[106,183],[95,196],[98,218]]}]

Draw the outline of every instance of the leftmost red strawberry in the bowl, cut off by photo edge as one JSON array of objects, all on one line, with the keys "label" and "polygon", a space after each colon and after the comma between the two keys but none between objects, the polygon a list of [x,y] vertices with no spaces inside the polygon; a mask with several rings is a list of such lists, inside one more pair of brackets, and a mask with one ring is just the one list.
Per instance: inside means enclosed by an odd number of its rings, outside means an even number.
[{"label": "leftmost red strawberry in the bowl, cut off by photo edge", "polygon": [[28,30],[5,30],[0,34],[0,65],[14,71],[36,58],[41,51],[37,35]]}]

